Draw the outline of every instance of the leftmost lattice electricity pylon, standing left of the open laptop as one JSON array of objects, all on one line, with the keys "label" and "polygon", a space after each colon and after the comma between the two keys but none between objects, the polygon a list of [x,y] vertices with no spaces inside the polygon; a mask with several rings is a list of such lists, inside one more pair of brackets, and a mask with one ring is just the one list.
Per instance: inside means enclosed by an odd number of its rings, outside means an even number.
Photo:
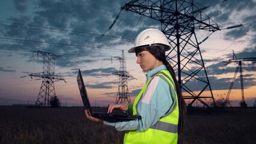
[{"label": "leftmost lattice electricity pylon, standing left of the open laptop", "polygon": [[33,73],[29,74],[29,76],[34,77],[41,77],[42,83],[41,88],[38,94],[37,101],[35,102],[35,106],[37,107],[49,107],[50,103],[49,100],[52,97],[55,97],[55,88],[54,88],[54,82],[55,80],[64,80],[65,79],[61,76],[58,76],[55,74],[55,59],[59,57],[59,55],[55,55],[53,53],[47,53],[47,52],[33,52],[37,53],[37,56],[40,56],[43,58],[43,72],[42,73]]}]

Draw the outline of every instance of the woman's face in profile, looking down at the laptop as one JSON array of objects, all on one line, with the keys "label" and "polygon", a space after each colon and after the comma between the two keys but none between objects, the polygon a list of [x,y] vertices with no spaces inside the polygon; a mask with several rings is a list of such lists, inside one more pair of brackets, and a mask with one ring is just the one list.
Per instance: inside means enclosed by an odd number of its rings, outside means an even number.
[{"label": "woman's face in profile, looking down at the laptop", "polygon": [[150,52],[144,50],[137,55],[137,64],[142,68],[143,71],[153,70],[156,67],[159,67],[163,63],[158,59],[154,58]]}]

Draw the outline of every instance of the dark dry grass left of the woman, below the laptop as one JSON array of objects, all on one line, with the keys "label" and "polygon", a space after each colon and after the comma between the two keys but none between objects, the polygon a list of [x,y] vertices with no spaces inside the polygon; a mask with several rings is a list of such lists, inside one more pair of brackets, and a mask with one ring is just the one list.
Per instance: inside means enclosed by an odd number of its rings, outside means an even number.
[{"label": "dark dry grass left of the woman, below the laptop", "polygon": [[123,133],[88,121],[82,107],[1,107],[0,140],[0,143],[120,143]]}]

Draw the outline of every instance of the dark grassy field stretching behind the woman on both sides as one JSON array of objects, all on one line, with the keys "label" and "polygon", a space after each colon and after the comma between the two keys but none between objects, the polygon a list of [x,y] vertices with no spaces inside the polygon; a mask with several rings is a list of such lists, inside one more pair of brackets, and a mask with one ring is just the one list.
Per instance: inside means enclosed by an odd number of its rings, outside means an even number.
[{"label": "dark grassy field stretching behind the woman on both sides", "polygon": [[[189,110],[179,143],[256,143],[256,109]],[[0,143],[122,143],[124,132],[94,124],[82,107],[0,106]]]}]

